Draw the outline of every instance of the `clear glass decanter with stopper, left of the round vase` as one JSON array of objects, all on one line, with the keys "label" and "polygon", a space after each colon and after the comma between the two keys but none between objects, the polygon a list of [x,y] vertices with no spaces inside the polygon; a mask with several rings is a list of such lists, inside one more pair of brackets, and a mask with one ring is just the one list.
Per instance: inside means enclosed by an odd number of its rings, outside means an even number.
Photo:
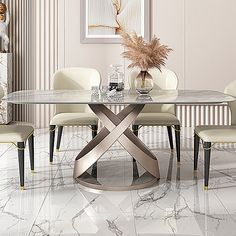
[{"label": "clear glass decanter with stopper, left of the round vase", "polygon": [[109,74],[109,90],[124,90],[124,73],[119,71],[122,65],[111,65],[112,72]]}]

